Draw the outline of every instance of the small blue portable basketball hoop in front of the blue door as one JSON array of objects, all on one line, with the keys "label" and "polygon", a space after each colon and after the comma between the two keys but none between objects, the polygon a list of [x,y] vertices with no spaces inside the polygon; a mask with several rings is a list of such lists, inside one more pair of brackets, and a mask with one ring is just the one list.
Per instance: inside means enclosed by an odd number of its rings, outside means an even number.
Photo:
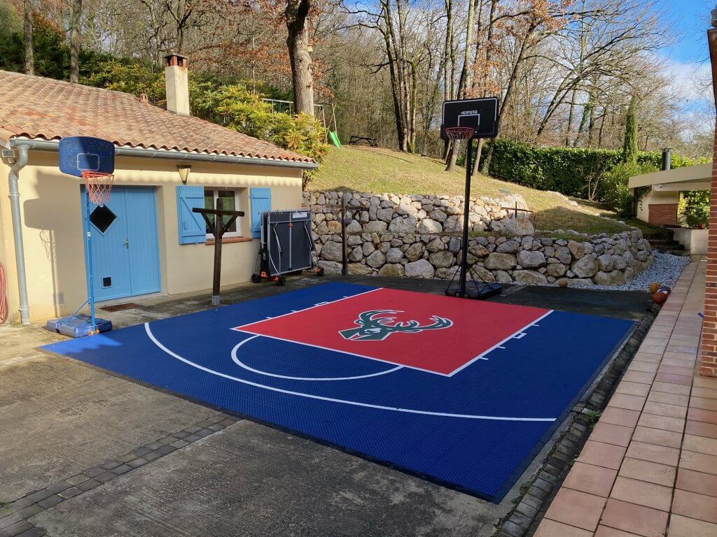
[{"label": "small blue portable basketball hoop in front of the blue door", "polygon": [[[110,140],[90,136],[69,136],[60,140],[58,147],[60,171],[82,178],[85,183],[85,255],[87,256],[87,300],[72,315],[50,319],[47,328],[70,337],[88,336],[108,332],[112,323],[95,317],[95,274],[92,269],[92,203],[102,207],[110,201],[115,180],[115,145]],[[90,306],[90,315],[80,310]]]}]

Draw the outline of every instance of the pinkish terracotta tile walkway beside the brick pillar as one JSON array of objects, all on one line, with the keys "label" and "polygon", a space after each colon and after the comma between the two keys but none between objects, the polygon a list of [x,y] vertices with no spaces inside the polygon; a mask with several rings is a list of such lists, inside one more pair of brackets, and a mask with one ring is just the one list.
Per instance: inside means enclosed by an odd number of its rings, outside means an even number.
[{"label": "pinkish terracotta tile walkway beside the brick pillar", "polygon": [[690,263],[535,534],[717,537],[717,378],[695,376],[706,263]]}]

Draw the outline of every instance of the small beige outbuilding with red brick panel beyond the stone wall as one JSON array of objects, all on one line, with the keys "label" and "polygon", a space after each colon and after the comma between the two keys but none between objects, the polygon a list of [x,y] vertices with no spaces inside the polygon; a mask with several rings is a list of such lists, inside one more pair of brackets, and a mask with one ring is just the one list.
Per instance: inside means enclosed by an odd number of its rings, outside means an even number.
[{"label": "small beige outbuilding with red brick panel beyond the stone wall", "polygon": [[679,241],[693,255],[703,256],[707,253],[708,231],[678,227],[678,205],[680,192],[709,190],[711,180],[712,165],[699,164],[635,175],[627,185],[633,192],[637,188],[649,187],[637,200],[637,218],[654,226],[674,228],[675,241]]}]

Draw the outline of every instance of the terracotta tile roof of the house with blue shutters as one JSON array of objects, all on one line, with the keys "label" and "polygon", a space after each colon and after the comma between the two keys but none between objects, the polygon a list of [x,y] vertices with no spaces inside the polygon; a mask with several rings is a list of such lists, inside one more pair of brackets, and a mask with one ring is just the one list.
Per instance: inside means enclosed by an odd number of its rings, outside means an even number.
[{"label": "terracotta tile roof of the house with blue shutters", "polygon": [[197,117],[176,115],[127,93],[0,70],[0,139],[95,136],[123,147],[313,163]]}]

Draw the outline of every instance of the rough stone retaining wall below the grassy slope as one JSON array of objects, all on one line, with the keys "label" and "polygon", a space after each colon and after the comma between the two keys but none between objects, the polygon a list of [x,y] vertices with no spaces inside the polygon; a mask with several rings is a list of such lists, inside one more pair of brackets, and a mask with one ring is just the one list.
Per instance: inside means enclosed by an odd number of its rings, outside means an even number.
[{"label": "rough stone retaining wall below the grassy slope", "polygon": [[[328,205],[341,193],[305,193],[313,211],[313,238],[319,265],[341,272],[341,222]],[[580,236],[575,240],[534,236],[528,218],[511,218],[501,207],[525,208],[521,196],[471,199],[470,227],[485,231],[471,238],[468,262],[486,281],[619,285],[654,261],[640,231]],[[353,193],[349,207],[360,209],[346,226],[351,274],[450,279],[460,265],[462,196],[398,196]]]}]

